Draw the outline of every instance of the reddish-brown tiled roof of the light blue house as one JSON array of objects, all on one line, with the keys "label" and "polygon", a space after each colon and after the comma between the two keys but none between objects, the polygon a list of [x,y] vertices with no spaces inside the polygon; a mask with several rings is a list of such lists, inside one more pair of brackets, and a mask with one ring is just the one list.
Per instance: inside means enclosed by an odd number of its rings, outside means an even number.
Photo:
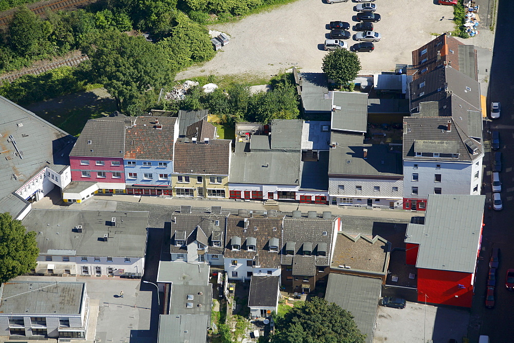
[{"label": "reddish-brown tiled roof of the light blue house", "polygon": [[[172,160],[177,118],[137,117],[126,129],[125,159]],[[160,128],[158,128],[160,127]]]}]

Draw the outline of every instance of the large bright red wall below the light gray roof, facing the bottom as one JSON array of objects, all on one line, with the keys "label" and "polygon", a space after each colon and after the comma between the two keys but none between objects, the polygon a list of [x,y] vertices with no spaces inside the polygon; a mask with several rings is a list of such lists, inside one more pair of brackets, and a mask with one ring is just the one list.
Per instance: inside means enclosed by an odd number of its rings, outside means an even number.
[{"label": "large bright red wall below the light gray roof, facing the bottom", "polygon": [[[471,307],[473,274],[433,269],[418,269],[418,301]],[[459,288],[458,284],[465,288]],[[458,295],[458,298],[455,296]]]}]

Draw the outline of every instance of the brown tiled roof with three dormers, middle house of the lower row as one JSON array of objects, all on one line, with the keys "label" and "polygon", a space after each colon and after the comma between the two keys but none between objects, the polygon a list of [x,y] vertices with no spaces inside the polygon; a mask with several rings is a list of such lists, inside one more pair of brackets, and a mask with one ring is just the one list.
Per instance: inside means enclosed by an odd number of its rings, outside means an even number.
[{"label": "brown tiled roof with three dormers, middle house of the lower row", "polygon": [[[278,238],[282,241],[282,222],[284,216],[276,215],[265,218],[262,215],[238,216],[230,215],[227,219],[227,235],[225,244],[225,258],[258,259],[261,268],[280,268],[279,252],[269,251],[269,240]],[[241,238],[241,249],[232,250],[230,240],[232,237]],[[248,251],[246,240],[254,237],[257,241],[255,251]],[[281,246],[281,245],[279,245]]]}]

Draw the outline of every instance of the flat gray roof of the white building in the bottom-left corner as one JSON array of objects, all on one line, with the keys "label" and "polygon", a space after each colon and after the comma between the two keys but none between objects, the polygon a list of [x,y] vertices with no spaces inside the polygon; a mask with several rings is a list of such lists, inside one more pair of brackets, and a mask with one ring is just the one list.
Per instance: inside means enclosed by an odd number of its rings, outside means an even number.
[{"label": "flat gray roof of the white building in the bottom-left corner", "polygon": [[9,281],[2,284],[0,313],[80,314],[86,284],[68,281]]}]

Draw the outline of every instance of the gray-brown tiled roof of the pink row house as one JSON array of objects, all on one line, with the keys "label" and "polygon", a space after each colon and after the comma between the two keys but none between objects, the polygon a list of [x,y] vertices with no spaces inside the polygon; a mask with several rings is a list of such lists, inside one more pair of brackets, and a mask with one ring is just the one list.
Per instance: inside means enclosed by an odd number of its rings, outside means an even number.
[{"label": "gray-brown tiled roof of the pink row house", "polygon": [[88,120],[69,156],[123,158],[127,125],[117,120]]}]

